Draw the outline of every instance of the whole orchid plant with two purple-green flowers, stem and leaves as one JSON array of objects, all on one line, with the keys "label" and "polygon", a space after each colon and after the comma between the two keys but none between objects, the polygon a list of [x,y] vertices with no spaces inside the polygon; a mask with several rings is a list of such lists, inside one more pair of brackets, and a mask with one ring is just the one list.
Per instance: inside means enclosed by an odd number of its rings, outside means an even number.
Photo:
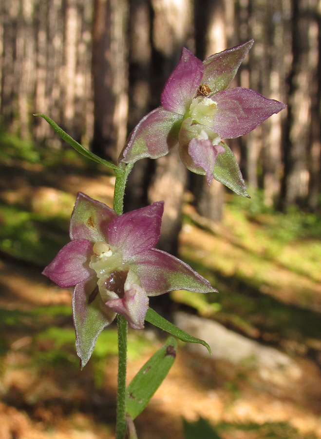
[{"label": "whole orchid plant with two purple-green flowers, stem and leaves", "polygon": [[237,160],[223,139],[253,130],[285,105],[243,87],[227,88],[253,40],[211,55],[203,62],[183,49],[161,95],[161,106],[134,128],[117,164],[81,146],[49,117],[41,116],[79,153],[112,168],[116,175],[113,209],[78,193],[70,221],[70,239],[43,274],[60,287],[74,287],[73,318],[76,350],[84,367],[100,332],[117,316],[118,394],[116,439],[136,438],[133,419],[141,413],[176,355],[170,337],[126,388],[127,327],[144,328],[149,321],[183,341],[201,343],[158,315],[149,297],[184,289],[215,292],[207,279],[188,264],[154,248],[160,237],[164,203],[123,213],[126,181],[133,163],[157,159],[178,146],[184,165],[205,175],[208,184],[221,181],[248,197]]}]

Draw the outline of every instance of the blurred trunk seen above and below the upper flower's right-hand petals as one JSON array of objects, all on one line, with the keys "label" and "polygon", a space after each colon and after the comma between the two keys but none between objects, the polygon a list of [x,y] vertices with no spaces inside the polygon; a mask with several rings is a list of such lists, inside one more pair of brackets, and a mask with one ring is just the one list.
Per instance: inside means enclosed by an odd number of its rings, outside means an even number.
[{"label": "blurred trunk seen above and below the upper flower's right-hand petals", "polygon": [[[206,14],[204,14],[206,11]],[[224,0],[199,0],[194,3],[196,56],[204,60],[209,55],[227,49],[226,11]],[[197,212],[213,221],[222,220],[224,186],[212,180],[210,186],[205,176],[191,176],[191,191]]]}]

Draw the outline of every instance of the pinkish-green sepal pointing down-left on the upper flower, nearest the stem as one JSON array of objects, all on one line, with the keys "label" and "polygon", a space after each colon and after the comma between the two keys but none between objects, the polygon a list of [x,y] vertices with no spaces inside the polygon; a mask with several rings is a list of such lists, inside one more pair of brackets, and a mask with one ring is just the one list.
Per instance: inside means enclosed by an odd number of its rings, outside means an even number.
[{"label": "pinkish-green sepal pointing down-left on the upper flower, nearest the stem", "polygon": [[150,157],[158,159],[176,145],[183,117],[162,107],[148,113],[133,129],[118,161],[134,163]]}]

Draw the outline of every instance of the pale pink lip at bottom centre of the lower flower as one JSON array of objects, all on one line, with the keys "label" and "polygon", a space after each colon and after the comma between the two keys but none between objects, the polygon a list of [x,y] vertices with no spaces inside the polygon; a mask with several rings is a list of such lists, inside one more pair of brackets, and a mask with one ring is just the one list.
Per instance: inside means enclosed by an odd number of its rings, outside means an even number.
[{"label": "pale pink lip at bottom centre of the lower flower", "polygon": [[128,320],[133,329],[143,329],[149,299],[145,290],[139,285],[132,285],[125,291],[123,299],[112,299],[106,305]]}]

